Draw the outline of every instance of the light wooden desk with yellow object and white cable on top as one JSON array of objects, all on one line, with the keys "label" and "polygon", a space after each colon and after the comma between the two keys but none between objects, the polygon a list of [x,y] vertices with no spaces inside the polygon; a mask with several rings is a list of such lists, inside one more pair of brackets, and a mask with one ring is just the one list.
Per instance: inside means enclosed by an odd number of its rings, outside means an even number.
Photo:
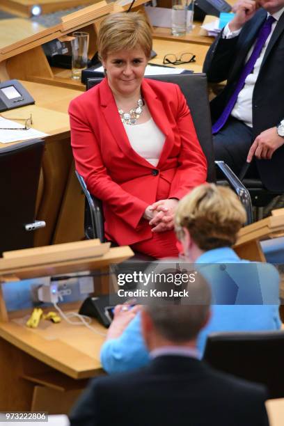
[{"label": "light wooden desk with yellow object and white cable on top", "polygon": [[95,320],[97,334],[64,320],[41,320],[38,329],[28,329],[28,318],[18,312],[0,323],[0,410],[68,413],[86,379],[103,374],[100,347],[107,330]]}]

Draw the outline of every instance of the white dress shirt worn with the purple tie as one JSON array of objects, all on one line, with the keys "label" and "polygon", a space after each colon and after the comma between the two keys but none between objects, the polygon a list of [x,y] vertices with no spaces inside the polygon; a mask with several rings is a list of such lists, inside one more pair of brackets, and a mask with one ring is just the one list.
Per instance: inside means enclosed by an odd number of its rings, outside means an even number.
[{"label": "white dress shirt worn with the purple tie", "polygon": [[[262,63],[263,57],[265,56],[265,51],[267,49],[267,45],[269,40],[271,39],[272,33],[276,27],[278,19],[281,17],[282,13],[284,13],[284,8],[278,10],[278,12],[274,13],[272,16],[276,19],[276,21],[272,24],[271,32],[267,37],[265,45],[262,47],[262,51],[260,52],[260,56],[258,56],[257,61],[255,62],[255,66],[251,74],[248,74],[246,80],[244,82],[244,87],[239,92],[237,97],[237,102],[235,103],[235,107],[232,109],[231,115],[237,120],[244,121],[249,127],[253,127],[253,89],[255,86],[255,81],[258,79],[258,73],[260,72],[260,65]],[[267,13],[267,17],[269,13]],[[241,29],[238,31],[230,31],[228,24],[225,26],[223,30],[223,38],[233,38],[239,35]],[[248,58],[251,56],[253,52],[253,48],[255,47],[255,43],[253,43],[250,51],[246,56],[246,62]]]}]

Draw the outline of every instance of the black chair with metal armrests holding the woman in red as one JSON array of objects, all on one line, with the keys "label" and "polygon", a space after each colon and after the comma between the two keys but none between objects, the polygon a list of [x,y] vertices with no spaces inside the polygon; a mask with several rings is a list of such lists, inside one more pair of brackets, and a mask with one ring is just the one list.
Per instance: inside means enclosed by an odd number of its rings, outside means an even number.
[{"label": "black chair with metal armrests holding the woman in red", "polygon": [[[191,116],[201,148],[207,158],[207,181],[216,182],[214,152],[212,144],[212,129],[210,118],[210,107],[207,95],[207,78],[205,74],[168,74],[155,77],[148,77],[159,81],[167,81],[178,84],[184,93],[187,104],[191,109]],[[102,81],[101,78],[92,78],[87,81],[87,90]],[[226,182],[239,196],[247,214],[247,224],[252,222],[251,198],[246,187],[240,182],[237,176],[223,161],[216,161],[216,166],[221,168]],[[86,195],[85,205],[85,235],[87,238],[97,237],[104,241],[104,218],[102,213],[102,203],[97,198],[90,195],[84,179],[78,174],[77,178]]]}]

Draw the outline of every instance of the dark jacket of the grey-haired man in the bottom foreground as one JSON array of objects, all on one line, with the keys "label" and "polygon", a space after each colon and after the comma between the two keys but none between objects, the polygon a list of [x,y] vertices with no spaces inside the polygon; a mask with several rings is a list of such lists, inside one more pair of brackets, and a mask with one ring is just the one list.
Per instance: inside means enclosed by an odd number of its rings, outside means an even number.
[{"label": "dark jacket of the grey-haired man in the bottom foreground", "polygon": [[93,379],[71,426],[268,426],[266,391],[185,356]]}]

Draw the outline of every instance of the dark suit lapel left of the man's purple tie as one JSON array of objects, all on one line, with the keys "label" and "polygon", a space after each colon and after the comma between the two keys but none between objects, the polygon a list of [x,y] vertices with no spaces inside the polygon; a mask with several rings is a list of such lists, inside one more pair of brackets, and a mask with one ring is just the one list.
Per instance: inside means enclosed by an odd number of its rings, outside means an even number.
[{"label": "dark suit lapel left of the man's purple tie", "polygon": [[263,22],[267,17],[267,11],[264,9],[260,9],[255,16],[247,22],[246,30],[242,33],[239,39],[239,52],[235,61],[235,65],[232,68],[232,79],[235,79],[237,74],[239,74],[239,70],[243,68],[244,61],[246,59],[246,55],[248,54],[249,49],[255,42],[255,38],[258,34],[260,26],[262,26]]}]

